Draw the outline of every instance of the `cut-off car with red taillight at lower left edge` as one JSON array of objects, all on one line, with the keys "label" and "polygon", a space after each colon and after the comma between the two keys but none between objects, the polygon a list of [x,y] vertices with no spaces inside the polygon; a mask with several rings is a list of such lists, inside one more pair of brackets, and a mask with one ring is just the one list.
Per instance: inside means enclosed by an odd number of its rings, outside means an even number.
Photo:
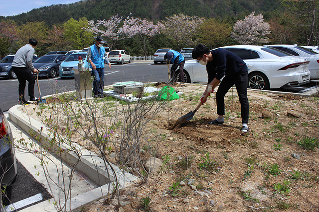
[{"label": "cut-off car with red taillight at lower left edge", "polygon": [[9,186],[17,175],[17,164],[10,126],[0,108],[0,182]]}]

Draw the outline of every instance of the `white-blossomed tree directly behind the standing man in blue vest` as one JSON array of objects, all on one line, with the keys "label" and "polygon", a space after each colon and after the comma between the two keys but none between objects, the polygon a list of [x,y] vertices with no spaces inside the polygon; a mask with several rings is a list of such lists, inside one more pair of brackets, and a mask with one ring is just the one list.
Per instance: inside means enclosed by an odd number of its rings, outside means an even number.
[{"label": "white-blossomed tree directly behind the standing man in blue vest", "polygon": [[89,27],[86,28],[87,31],[92,32],[94,35],[101,35],[104,37],[105,42],[108,46],[113,49],[117,40],[119,40],[119,24],[122,21],[122,16],[113,15],[109,20],[93,20],[89,21]]}]

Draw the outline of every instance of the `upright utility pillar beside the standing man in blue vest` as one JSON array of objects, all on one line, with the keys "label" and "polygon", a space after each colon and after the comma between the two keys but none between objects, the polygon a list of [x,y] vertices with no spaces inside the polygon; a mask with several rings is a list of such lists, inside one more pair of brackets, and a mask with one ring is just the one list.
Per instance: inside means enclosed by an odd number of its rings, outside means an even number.
[{"label": "upright utility pillar beside the standing man in blue vest", "polygon": [[92,99],[92,77],[89,68],[82,67],[82,64],[73,67],[76,95],[80,99]]}]

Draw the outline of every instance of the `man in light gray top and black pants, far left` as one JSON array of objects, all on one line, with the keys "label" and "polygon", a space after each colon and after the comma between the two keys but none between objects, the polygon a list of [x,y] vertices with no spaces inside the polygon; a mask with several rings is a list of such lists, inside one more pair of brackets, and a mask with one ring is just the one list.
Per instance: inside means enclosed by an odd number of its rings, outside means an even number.
[{"label": "man in light gray top and black pants, far left", "polygon": [[30,101],[38,101],[38,98],[34,97],[34,83],[35,78],[33,73],[38,73],[33,67],[32,58],[34,54],[34,47],[38,44],[37,40],[31,38],[29,43],[22,46],[16,53],[12,62],[12,71],[15,73],[19,81],[19,101],[20,104],[27,104],[29,102],[25,101],[24,89],[25,82],[28,81],[28,92],[30,96]]}]

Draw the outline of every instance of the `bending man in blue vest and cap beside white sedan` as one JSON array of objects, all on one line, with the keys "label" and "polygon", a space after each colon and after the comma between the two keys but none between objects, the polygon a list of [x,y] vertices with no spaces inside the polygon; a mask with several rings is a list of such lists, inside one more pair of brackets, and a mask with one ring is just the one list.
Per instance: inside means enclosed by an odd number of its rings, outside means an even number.
[{"label": "bending man in blue vest and cap beside white sedan", "polygon": [[[180,86],[185,86],[185,84],[184,84],[184,82],[185,82],[184,71],[183,71],[184,64],[185,64],[184,56],[177,51],[169,50],[164,55],[164,60],[166,61],[166,63],[170,62],[172,64],[172,66],[170,68],[171,82],[174,83],[177,81],[177,77],[178,77],[178,73],[179,73],[180,74]],[[178,66],[179,66],[179,71],[177,72],[176,69]]]}]

